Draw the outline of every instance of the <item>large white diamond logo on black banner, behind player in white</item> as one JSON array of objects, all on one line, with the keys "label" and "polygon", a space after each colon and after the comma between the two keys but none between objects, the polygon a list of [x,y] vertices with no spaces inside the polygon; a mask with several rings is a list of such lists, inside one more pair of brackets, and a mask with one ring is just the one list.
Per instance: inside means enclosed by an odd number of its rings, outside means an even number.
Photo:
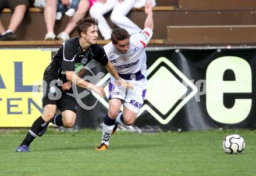
[{"label": "large white diamond logo on black banner, behind player in white", "polygon": [[[161,124],[168,124],[180,109],[197,93],[197,87],[166,58],[159,58],[147,70],[147,94],[138,117],[145,110]],[[97,86],[109,79],[106,74]],[[105,88],[108,93],[108,86]],[[93,92],[93,95],[108,108],[108,102]],[[122,110],[122,109],[121,109]]]}]

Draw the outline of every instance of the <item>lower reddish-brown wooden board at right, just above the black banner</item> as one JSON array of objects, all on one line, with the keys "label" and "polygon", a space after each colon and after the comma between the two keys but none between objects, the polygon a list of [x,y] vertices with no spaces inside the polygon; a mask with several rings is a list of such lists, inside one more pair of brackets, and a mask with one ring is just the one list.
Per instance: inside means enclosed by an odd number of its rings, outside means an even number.
[{"label": "lower reddish-brown wooden board at right, just above the black banner", "polygon": [[256,25],[168,26],[168,44],[255,43]]}]

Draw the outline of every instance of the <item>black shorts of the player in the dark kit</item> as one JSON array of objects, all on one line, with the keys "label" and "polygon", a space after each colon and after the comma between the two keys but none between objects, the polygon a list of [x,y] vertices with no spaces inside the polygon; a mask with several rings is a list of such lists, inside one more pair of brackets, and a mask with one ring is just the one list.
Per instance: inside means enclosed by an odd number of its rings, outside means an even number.
[{"label": "black shorts of the player in the dark kit", "polygon": [[[74,113],[77,113],[77,102],[73,96],[67,95],[70,91],[63,91],[61,87],[57,85],[49,87],[49,82],[47,81],[46,90],[44,89],[44,97],[42,98],[42,105],[57,105],[58,109],[61,112],[65,110],[72,110]],[[59,91],[59,92],[57,92]],[[56,96],[58,94],[58,97]]]}]

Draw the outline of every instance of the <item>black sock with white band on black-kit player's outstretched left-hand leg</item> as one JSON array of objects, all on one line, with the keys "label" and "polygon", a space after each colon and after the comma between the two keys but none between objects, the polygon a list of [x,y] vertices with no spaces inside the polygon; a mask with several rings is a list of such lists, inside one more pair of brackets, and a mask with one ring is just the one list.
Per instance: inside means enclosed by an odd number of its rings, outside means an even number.
[{"label": "black sock with white band on black-kit player's outstretched left-hand leg", "polygon": [[47,125],[47,122],[42,119],[42,117],[38,117],[37,120],[34,121],[33,125],[31,126],[29,132],[27,133],[25,139],[20,145],[29,146],[30,143],[37,137],[38,133]]}]

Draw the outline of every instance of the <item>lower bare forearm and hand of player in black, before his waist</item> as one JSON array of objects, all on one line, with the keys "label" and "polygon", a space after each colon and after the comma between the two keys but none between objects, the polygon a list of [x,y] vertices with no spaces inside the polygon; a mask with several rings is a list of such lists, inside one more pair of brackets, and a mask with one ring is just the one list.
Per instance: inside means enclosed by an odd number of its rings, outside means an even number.
[{"label": "lower bare forearm and hand of player in black, before his waist", "polygon": [[90,82],[84,81],[82,78],[77,76],[74,71],[66,71],[66,78],[68,81],[74,82],[74,84],[78,85],[79,87],[91,89],[96,94],[99,94],[102,98],[106,96],[106,93],[102,87],[97,87]]}]

